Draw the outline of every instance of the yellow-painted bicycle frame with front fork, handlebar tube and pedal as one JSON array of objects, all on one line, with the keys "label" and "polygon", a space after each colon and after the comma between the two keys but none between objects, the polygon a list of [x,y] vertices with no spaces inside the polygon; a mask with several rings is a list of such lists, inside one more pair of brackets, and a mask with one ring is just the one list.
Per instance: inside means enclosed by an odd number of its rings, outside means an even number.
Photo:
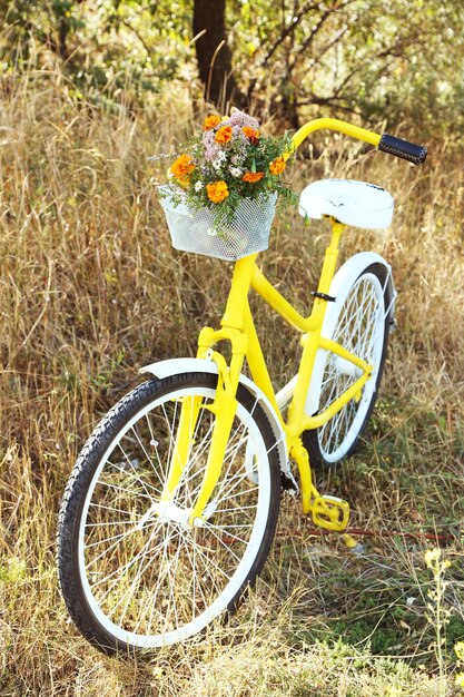
[{"label": "yellow-painted bicycle frame with front fork, handlebar tube and pedal", "polygon": [[[337,130],[345,135],[377,146],[381,136],[372,131],[352,126],[337,119],[316,119],[303,126],[293,137],[293,148],[296,148],[312,132],[320,128]],[[292,151],[285,157],[289,157]],[[326,249],[323,269],[318,283],[318,294],[328,294],[335,274],[338,258],[338,245],[345,226],[332,220],[332,239]],[[320,497],[313,483],[309,458],[302,442],[302,433],[308,429],[317,429],[332,419],[347,402],[359,399],[361,391],[371,377],[373,366],[358,356],[343,348],[339,344],[320,336],[326,313],[327,301],[315,297],[310,315],[304,317],[288,303],[280,293],[267,281],[256,266],[257,254],[236,262],[231,279],[226,310],[220,322],[220,330],[205,327],[198,338],[197,357],[213,359],[218,367],[218,385],[213,404],[201,406],[201,397],[182,404],[178,436],[171,458],[169,475],[164,491],[164,498],[169,499],[180,481],[186,464],[189,444],[200,409],[209,409],[216,416],[211,435],[211,446],[205,469],[204,480],[189,517],[190,524],[201,524],[205,508],[219,480],[229,438],[231,424],[237,408],[237,389],[245,359],[248,362],[253,380],[264,392],[273,405],[285,433],[287,451],[299,470],[303,512],[313,512],[315,521],[330,530],[343,530],[348,520],[348,504],[332,497]],[[288,419],[284,420],[277,404],[274,387],[263,355],[261,346],[256,333],[255,324],[248,303],[248,293],[253,288],[264,301],[277,312],[288,324],[302,332],[303,353],[295,384],[294,394],[288,409]],[[224,356],[214,351],[220,341],[229,341],[231,360],[227,365]],[[349,361],[359,369],[361,375],[356,382],[340,394],[327,409],[315,416],[305,414],[305,402],[308,393],[312,372],[318,348],[330,351],[345,361]]]}]

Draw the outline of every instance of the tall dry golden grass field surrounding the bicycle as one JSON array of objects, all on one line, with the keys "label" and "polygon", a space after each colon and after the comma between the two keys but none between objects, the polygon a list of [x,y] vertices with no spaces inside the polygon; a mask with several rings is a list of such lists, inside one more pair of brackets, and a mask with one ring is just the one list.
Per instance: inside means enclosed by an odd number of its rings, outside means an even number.
[{"label": "tall dry golden grass field surrounding the bicycle", "polygon": [[[158,114],[130,114],[121,96],[115,112],[78,109],[58,73],[3,85],[0,693],[451,695],[452,646],[464,635],[464,174],[440,144],[419,170],[335,139],[293,177],[296,189],[326,175],[365,178],[395,196],[388,233],[352,232],[344,243],[344,256],[372,247],[392,263],[399,331],[365,446],[323,481],[352,502],[358,528],[456,532],[446,551],[446,683],[434,677],[426,541],[366,538],[356,557],[336,536],[315,538],[292,501],[254,600],[205,642],[136,665],[100,656],[67,620],[55,531],[79,448],[138,383],[139,366],[192,355],[198,330],[223,308],[228,265],[171,249],[154,192],[162,168],[146,160],[188,132],[186,105],[179,94]],[[263,256],[302,308],[326,239],[322,226],[290,216]],[[265,313],[258,324],[282,384],[297,338]]]}]

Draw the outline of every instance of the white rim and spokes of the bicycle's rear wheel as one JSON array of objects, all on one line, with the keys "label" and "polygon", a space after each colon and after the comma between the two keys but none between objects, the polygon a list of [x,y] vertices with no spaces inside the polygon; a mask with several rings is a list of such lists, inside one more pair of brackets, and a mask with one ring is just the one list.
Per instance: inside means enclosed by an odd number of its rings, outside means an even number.
[{"label": "white rim and spokes of the bicycle's rear wheel", "polygon": [[[384,289],[375,274],[363,274],[349,289],[333,333],[337,342],[374,366],[361,400],[352,400],[317,431],[320,452],[337,462],[355,442],[375,395],[385,337]],[[332,404],[359,377],[353,364],[327,355],[320,386],[319,412]]]}]

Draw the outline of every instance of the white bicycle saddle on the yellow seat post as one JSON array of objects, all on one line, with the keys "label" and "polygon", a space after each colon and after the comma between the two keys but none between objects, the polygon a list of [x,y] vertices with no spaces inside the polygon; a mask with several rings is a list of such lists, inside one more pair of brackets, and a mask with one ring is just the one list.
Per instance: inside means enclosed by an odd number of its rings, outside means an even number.
[{"label": "white bicycle saddle on the yellow seat post", "polygon": [[392,223],[394,202],[385,189],[353,179],[320,179],[303,189],[299,214],[319,219],[332,216],[354,227],[384,229]]}]

